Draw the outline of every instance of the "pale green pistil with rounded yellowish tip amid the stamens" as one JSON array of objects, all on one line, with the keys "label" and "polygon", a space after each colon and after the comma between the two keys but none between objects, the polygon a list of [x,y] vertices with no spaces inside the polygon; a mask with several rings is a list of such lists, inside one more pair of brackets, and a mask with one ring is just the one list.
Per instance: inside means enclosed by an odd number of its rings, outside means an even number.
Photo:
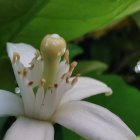
[{"label": "pale green pistil with rounded yellowish tip amid the stamens", "polygon": [[47,89],[55,84],[58,65],[66,51],[66,42],[57,34],[47,35],[42,40],[40,50],[44,63],[42,77],[46,80],[44,88]]}]

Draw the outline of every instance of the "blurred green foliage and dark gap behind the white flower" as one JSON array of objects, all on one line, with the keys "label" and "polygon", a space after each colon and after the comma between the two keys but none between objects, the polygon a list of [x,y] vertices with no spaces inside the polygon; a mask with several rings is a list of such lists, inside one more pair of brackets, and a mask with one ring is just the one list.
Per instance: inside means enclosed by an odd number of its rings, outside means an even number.
[{"label": "blurred green foliage and dark gap behind the white flower", "polygon": [[[14,92],[17,83],[6,53],[6,42],[39,48],[46,34],[58,33],[68,43],[70,59],[79,65],[74,74],[108,84],[113,95],[86,100],[117,114],[140,135],[140,0],[1,0],[0,89]],[[0,139],[14,117],[0,118]],[[83,140],[55,125],[56,140]]]}]

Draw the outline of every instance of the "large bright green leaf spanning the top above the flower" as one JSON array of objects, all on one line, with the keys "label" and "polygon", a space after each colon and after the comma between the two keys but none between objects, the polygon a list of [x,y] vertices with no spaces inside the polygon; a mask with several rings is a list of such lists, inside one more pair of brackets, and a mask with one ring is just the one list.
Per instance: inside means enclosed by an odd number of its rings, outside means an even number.
[{"label": "large bright green leaf spanning the top above the flower", "polygon": [[72,40],[140,9],[140,0],[2,0],[2,3],[0,42],[3,46],[7,41],[19,41],[38,47],[47,33],[58,33]]}]

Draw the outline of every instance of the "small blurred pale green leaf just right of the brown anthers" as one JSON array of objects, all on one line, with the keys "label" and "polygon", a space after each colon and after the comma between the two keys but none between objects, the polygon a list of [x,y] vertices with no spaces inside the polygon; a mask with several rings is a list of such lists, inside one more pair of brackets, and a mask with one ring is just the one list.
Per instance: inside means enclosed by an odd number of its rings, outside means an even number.
[{"label": "small blurred pale green leaf just right of the brown anthers", "polygon": [[[108,66],[100,61],[78,61],[78,65],[74,69],[74,74],[80,73],[81,75],[94,72],[96,74],[103,73]],[[89,74],[90,75],[90,74]]]}]

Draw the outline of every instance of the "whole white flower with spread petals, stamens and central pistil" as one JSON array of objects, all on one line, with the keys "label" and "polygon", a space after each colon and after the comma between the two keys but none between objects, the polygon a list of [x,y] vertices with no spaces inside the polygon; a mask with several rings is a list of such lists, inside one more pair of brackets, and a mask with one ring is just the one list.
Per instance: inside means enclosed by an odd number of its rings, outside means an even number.
[{"label": "whole white flower with spread petals, stamens and central pistil", "polygon": [[[71,77],[63,38],[53,34],[41,44],[41,55],[32,46],[8,43],[20,94],[0,90],[0,116],[16,116],[4,140],[53,140],[58,123],[87,140],[136,140],[133,132],[107,109],[81,101],[100,93],[111,94],[104,83]],[[64,60],[60,57],[64,55]],[[18,89],[18,92],[19,92]]]}]

